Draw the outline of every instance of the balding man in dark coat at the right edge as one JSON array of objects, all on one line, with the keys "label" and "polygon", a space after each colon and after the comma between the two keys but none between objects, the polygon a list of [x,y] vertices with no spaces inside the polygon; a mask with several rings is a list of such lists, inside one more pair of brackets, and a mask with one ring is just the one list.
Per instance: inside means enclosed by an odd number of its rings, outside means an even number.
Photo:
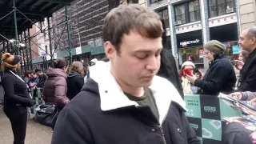
[{"label": "balding man in dark coat at the right edge", "polygon": [[250,52],[240,70],[238,91],[256,91],[256,26],[242,31],[238,42],[242,50]]}]

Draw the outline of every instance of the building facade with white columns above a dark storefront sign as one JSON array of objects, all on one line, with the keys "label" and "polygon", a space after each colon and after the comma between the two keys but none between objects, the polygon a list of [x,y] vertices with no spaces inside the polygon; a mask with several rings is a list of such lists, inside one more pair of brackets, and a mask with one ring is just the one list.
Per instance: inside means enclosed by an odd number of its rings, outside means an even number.
[{"label": "building facade with white columns above a dark storefront sign", "polygon": [[[243,1],[243,0],[242,0]],[[226,46],[230,59],[238,54],[240,33],[237,0],[148,0],[151,9],[167,10],[170,27],[170,50],[178,66],[188,57],[198,67],[208,67],[203,57],[203,44],[216,39]],[[162,15],[165,18],[165,15]],[[167,18],[166,18],[167,19]]]}]

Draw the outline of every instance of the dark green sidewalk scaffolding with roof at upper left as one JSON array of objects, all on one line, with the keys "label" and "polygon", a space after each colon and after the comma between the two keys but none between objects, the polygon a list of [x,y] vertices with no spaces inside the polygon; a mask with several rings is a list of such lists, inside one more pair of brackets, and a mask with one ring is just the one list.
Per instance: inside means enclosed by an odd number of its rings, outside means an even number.
[{"label": "dark green sidewalk scaffolding with roof at upper left", "polygon": [[[50,27],[49,18],[56,10],[63,6],[67,7],[67,5],[70,5],[70,2],[72,2],[72,0],[0,1],[0,6],[2,7],[2,10],[0,10],[0,17],[2,17],[0,18],[1,56],[6,52],[22,55],[22,66],[24,70],[32,70],[32,52],[34,52],[34,50],[31,50],[31,46],[38,46],[37,42],[33,42],[32,39],[36,37],[40,32],[46,34],[46,31],[48,31],[47,35],[50,40],[50,54],[47,52],[46,54],[50,55],[50,61],[52,62],[54,52],[52,51],[51,42],[54,40],[56,41],[56,45],[58,45],[59,40],[57,41],[55,38],[51,37],[50,30],[54,26]],[[47,18],[48,26],[47,29],[42,30],[42,26],[39,27],[35,23],[43,22],[44,18]],[[68,17],[66,17],[65,22],[68,24]],[[32,26],[37,26],[40,32],[36,32],[34,35],[30,36],[30,28]],[[69,34],[69,31],[67,31],[67,33]],[[38,46],[38,48],[42,49],[41,46]],[[34,54],[38,53],[34,52]],[[41,58],[45,60],[45,57],[41,56]]]}]

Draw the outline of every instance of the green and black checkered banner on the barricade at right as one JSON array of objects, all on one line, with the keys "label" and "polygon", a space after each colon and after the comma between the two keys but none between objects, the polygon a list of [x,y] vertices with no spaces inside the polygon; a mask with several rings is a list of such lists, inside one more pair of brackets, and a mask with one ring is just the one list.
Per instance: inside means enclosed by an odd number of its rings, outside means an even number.
[{"label": "green and black checkered banner on the barricade at right", "polygon": [[190,126],[205,144],[221,144],[222,128],[226,125],[222,118],[242,114],[214,95],[185,94],[184,101]]}]

